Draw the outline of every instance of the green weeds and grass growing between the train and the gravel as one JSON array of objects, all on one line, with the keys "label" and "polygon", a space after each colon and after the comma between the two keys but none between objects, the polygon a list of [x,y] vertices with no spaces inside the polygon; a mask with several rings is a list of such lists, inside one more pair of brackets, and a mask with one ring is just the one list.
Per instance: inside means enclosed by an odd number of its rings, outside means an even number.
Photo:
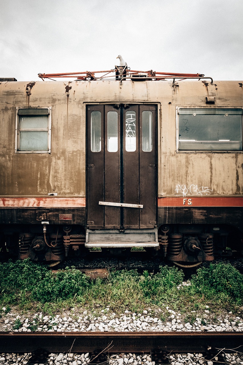
[{"label": "green weeds and grass growing between the train and the gravel", "polygon": [[[159,307],[186,313],[205,306],[239,310],[243,305],[243,275],[230,264],[210,264],[192,276],[191,286],[177,286],[184,280],[182,270],[161,266],[156,274],[136,270],[110,271],[107,279],[91,280],[75,268],[53,274],[45,265],[29,260],[0,264],[0,308],[39,310],[53,315],[63,308],[86,306],[89,310],[114,312]],[[0,309],[0,315],[3,311]],[[162,315],[162,314],[161,314]],[[166,319],[166,317],[163,317]],[[194,320],[194,315],[188,322]],[[18,323],[15,323],[16,328]]]}]

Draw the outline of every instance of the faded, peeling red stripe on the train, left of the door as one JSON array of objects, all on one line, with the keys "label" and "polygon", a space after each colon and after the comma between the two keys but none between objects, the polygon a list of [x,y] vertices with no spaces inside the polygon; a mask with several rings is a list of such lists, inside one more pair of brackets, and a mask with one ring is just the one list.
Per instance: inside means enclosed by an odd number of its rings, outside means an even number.
[{"label": "faded, peeling red stripe on the train, left of the door", "polygon": [[35,197],[11,197],[0,198],[1,208],[35,208],[35,207],[48,207],[48,208],[82,208],[85,207],[85,198],[35,198]]}]

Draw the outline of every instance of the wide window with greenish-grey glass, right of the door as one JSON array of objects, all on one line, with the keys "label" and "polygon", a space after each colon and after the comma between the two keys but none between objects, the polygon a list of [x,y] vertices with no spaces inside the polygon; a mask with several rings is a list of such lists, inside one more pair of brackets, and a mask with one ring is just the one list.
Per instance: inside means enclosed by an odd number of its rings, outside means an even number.
[{"label": "wide window with greenish-grey glass, right of the door", "polygon": [[242,151],[242,109],[178,109],[178,150]]}]

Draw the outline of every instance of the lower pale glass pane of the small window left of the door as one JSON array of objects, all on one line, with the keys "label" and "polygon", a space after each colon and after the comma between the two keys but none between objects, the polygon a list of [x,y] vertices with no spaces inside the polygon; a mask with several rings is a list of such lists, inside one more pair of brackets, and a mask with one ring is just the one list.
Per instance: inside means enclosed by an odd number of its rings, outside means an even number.
[{"label": "lower pale glass pane of the small window left of the door", "polygon": [[20,151],[47,151],[48,132],[20,132],[19,133]]}]

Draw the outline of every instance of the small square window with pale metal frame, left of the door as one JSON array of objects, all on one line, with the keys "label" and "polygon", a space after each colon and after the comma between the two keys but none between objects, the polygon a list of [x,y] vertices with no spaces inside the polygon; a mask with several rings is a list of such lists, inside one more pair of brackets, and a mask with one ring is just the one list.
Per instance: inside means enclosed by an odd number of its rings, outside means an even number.
[{"label": "small square window with pale metal frame, left of the door", "polygon": [[51,108],[17,108],[17,153],[50,153]]}]

